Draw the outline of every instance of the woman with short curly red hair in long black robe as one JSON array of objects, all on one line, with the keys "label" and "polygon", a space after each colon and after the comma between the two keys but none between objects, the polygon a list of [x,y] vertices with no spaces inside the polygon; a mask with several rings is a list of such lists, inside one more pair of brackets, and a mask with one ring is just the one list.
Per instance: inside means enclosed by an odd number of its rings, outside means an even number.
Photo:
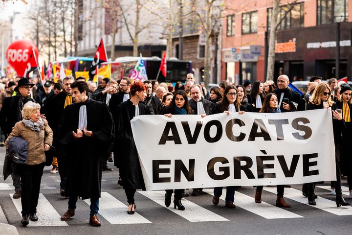
[{"label": "woman with short curly red hair in long black robe", "polygon": [[130,99],[119,104],[114,115],[115,142],[120,150],[117,165],[122,179],[122,187],[125,189],[129,203],[128,214],[134,214],[134,193],[136,190],[139,188],[146,190],[131,128],[132,118],[150,114],[149,108],[143,104],[146,96],[144,84],[134,82],[131,85]]}]

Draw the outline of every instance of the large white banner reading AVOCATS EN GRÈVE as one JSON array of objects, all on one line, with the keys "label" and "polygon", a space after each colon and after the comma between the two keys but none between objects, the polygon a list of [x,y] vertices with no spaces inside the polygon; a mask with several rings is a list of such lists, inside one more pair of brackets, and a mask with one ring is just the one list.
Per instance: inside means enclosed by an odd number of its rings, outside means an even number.
[{"label": "large white banner reading AVOCATS EN GR\u00c8VE", "polygon": [[336,180],[331,111],[138,116],[147,190]]}]

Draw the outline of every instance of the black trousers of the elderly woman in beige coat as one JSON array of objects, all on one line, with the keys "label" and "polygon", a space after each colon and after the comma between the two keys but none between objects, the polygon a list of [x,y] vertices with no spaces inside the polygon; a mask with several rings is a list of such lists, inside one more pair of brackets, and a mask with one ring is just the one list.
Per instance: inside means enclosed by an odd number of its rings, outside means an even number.
[{"label": "black trousers of the elderly woman in beige coat", "polygon": [[37,213],[44,163],[18,166],[22,183],[22,214]]}]

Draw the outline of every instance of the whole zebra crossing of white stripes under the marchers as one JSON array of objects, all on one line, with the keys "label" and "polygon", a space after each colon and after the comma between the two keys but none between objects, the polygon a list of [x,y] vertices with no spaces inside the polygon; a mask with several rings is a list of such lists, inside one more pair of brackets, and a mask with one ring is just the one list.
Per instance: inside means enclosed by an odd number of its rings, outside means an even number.
[{"label": "whole zebra crossing of white stripes under the marchers", "polygon": [[[318,188],[322,188],[324,190],[330,189],[328,186],[318,186]],[[1,190],[10,190],[10,186],[6,186],[3,183],[0,183],[0,189]],[[270,200],[270,203],[275,202],[275,195],[276,194],[276,188],[275,187],[264,187],[264,190],[273,193],[272,197],[273,199]],[[344,191],[346,191],[346,188],[344,188]],[[184,198],[182,199],[182,204],[186,207],[185,211],[179,211],[177,209],[174,209],[173,204],[169,207],[166,208],[164,204],[164,194],[165,191],[137,191],[137,194],[139,193],[140,195],[143,195],[146,197],[146,200],[152,201],[154,204],[158,204],[161,207],[157,209],[158,211],[158,217],[162,219],[162,214],[166,211],[171,211],[173,216],[179,216],[182,217],[183,219],[193,223],[193,222],[216,222],[216,221],[231,221],[233,220],[232,217],[229,216],[228,213],[221,213],[221,211],[217,210],[218,208],[220,209],[221,203],[216,208],[215,206],[212,206],[211,198],[214,195],[213,194],[213,189],[203,189],[204,194],[202,196],[198,197],[190,197],[190,198]],[[253,192],[251,190],[251,192]],[[328,193],[328,191],[327,191]],[[18,220],[21,219],[21,199],[13,199],[12,198],[12,193],[6,194],[9,197],[11,197],[11,201],[13,203],[12,206],[8,208],[13,208],[18,212]],[[222,195],[220,197],[221,200],[225,200],[225,195],[226,195],[226,188],[223,189]],[[198,198],[203,198],[207,197],[207,200],[209,200],[209,204],[207,206],[204,206],[201,202],[199,203]],[[50,198],[50,197],[49,197]],[[286,188],[285,189],[285,198],[293,200],[295,202],[301,203],[308,205],[308,199],[302,196],[301,190],[295,189],[295,188]],[[69,226],[70,222],[69,221],[61,221],[60,220],[60,212],[62,210],[55,209],[55,207],[50,203],[51,199],[47,199],[45,197],[45,193],[41,193],[39,196],[39,201],[38,201],[38,207],[37,207],[37,214],[39,217],[39,220],[37,222],[32,222],[29,223],[28,226]],[[84,205],[87,205],[87,211],[89,211],[89,205],[90,205],[90,200],[84,200],[85,203]],[[134,215],[128,215],[127,210],[128,206],[125,203],[126,198],[121,198],[117,197],[116,195],[114,196],[114,193],[111,192],[102,192],[101,193],[101,198],[99,201],[99,217],[104,218],[106,221],[108,221],[112,225],[117,225],[117,224],[152,224],[155,221],[153,220],[154,215],[150,215],[149,213],[143,213],[143,205],[138,205],[138,208],[136,210],[136,213]],[[323,198],[323,197],[318,197],[316,199],[317,205],[316,206],[311,206],[314,209],[311,209],[311,207],[307,207],[308,210],[314,211],[314,210],[322,210],[325,211],[329,214],[332,215],[337,215],[337,216],[343,216],[343,215],[352,215],[352,207],[341,207],[337,208],[336,204],[334,201]],[[65,201],[65,203],[67,203]],[[237,208],[243,209],[249,213],[256,214],[264,219],[302,219],[305,216],[305,213],[302,213],[302,211],[295,211],[291,209],[283,209],[276,207],[275,205],[272,205],[270,203],[264,202],[262,198],[262,203],[257,204],[254,202],[254,193],[253,195],[246,195],[242,192],[236,191],[235,193],[235,205]],[[201,204],[201,205],[198,205]],[[224,202],[222,202],[224,204]],[[57,205],[57,204],[56,204]],[[206,208],[204,208],[206,207]],[[293,208],[295,205],[293,205]],[[143,214],[138,213],[138,211]],[[223,208],[225,211],[231,211],[234,214],[239,213],[239,210],[234,209],[234,210],[228,210]],[[292,212],[294,211],[294,212]],[[170,212],[169,212],[170,213]],[[150,217],[149,217],[150,216]]]}]

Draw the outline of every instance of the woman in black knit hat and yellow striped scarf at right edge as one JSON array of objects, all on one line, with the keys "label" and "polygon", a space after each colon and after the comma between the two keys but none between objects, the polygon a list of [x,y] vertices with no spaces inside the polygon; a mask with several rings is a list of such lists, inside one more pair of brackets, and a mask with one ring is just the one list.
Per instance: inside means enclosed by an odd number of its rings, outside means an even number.
[{"label": "woman in black knit hat and yellow striped scarf at right edge", "polygon": [[342,110],[342,118],[345,120],[346,129],[342,132],[341,144],[341,171],[347,176],[350,189],[349,198],[352,198],[352,88],[349,84],[341,85],[340,97],[336,101],[337,108]]}]

